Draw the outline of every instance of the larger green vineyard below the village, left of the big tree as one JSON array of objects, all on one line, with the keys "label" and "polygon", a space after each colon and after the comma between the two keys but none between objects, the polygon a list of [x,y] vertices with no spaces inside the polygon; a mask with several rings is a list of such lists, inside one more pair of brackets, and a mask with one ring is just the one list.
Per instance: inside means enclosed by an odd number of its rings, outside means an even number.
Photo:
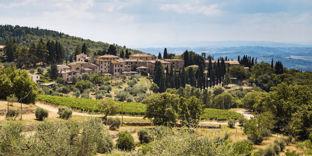
[{"label": "larger green vineyard below the village, left of the big tree", "polygon": [[[81,99],[62,96],[50,96],[50,95],[38,95],[37,101],[41,101],[46,104],[53,105],[65,105],[79,110],[80,112],[99,112],[98,103],[100,100],[93,99]],[[123,113],[127,115],[144,115],[146,105],[134,102],[120,102],[116,101],[120,105],[119,114],[121,114],[121,105],[123,106]]]}]

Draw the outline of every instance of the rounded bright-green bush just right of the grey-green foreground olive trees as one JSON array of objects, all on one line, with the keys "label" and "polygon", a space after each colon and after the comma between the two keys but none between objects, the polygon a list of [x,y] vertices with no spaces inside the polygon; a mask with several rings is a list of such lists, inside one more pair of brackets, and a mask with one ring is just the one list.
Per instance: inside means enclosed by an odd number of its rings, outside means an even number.
[{"label": "rounded bright-green bush just right of the grey-green foreground olive trees", "polygon": [[118,149],[131,151],[135,148],[135,142],[128,130],[123,130],[118,133],[119,138],[116,140],[116,147]]}]

